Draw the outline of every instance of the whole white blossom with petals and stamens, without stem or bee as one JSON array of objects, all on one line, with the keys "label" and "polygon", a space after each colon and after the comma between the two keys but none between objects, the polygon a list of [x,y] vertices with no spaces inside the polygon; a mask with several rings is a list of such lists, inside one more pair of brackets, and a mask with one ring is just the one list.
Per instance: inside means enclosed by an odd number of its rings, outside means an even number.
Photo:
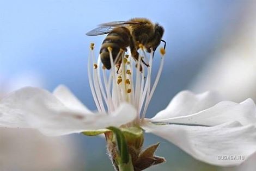
[{"label": "whole white blossom with petals and stamens, without stem or bee", "polygon": [[237,165],[244,160],[220,160],[220,156],[240,155],[247,159],[256,151],[256,107],[251,99],[237,104],[221,101],[211,92],[182,91],[166,109],[151,119],[145,118],[162,71],[164,51],[153,86],[153,53],[149,59],[144,50],[142,54],[150,66],[142,65],[142,72],[140,67],[135,67],[130,55],[125,56],[123,52],[120,52],[123,61],[117,72],[111,54],[112,69],[108,74],[105,68],[102,69],[100,58],[95,61],[92,47],[88,63],[89,84],[99,113],[88,110],[65,86],[57,87],[52,94],[25,87],[1,101],[0,125],[35,128],[52,136],[108,126],[141,126],[196,159],[221,166]]}]

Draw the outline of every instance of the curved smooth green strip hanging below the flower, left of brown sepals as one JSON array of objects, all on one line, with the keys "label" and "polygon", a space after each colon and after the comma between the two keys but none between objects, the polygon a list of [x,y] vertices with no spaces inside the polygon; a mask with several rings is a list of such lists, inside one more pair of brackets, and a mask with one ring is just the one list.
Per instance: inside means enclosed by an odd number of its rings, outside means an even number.
[{"label": "curved smooth green strip hanging below the flower, left of brown sepals", "polygon": [[127,143],[125,140],[125,136],[123,134],[123,132],[114,127],[114,126],[109,126],[107,129],[111,130],[113,132],[113,134],[115,135],[115,139],[117,141],[117,147],[118,147],[118,151],[119,151],[119,155],[120,155],[120,162],[121,163],[128,163],[129,162],[129,151],[128,151],[128,147],[127,147]]}]

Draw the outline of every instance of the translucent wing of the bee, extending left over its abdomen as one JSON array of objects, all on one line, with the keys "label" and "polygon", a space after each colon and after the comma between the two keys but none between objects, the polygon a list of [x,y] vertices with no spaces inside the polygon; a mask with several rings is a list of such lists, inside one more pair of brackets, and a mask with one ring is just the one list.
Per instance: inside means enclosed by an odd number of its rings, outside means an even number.
[{"label": "translucent wing of the bee, extending left over its abdomen", "polygon": [[131,24],[144,24],[142,22],[129,22],[129,21],[113,21],[108,23],[100,24],[99,27],[89,31],[86,35],[97,36],[102,34],[107,34],[112,31],[115,27],[126,26]]}]

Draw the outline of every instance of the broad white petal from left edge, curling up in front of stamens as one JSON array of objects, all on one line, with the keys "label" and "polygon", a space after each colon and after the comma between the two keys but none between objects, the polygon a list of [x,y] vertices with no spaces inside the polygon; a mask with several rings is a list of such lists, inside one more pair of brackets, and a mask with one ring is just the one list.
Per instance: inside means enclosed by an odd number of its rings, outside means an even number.
[{"label": "broad white petal from left edge, curling up in front of stamens", "polygon": [[34,87],[22,88],[4,98],[0,113],[0,126],[36,128],[49,136],[120,126],[137,116],[129,104],[120,105],[109,115],[86,115],[70,110],[50,92]]}]

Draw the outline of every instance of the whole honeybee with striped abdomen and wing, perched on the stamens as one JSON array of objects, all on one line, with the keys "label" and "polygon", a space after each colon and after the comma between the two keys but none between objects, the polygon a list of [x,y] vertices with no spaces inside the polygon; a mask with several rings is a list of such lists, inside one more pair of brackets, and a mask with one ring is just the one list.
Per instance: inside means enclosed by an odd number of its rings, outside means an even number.
[{"label": "whole honeybee with striped abdomen and wing, perched on the stamens", "polygon": [[[164,29],[158,23],[154,24],[147,18],[132,18],[129,21],[114,21],[100,24],[99,27],[89,31],[86,35],[108,34],[102,42],[100,58],[103,66],[110,69],[111,60],[108,47],[111,47],[114,64],[119,68],[121,65],[120,49],[126,52],[126,48],[130,47],[133,59],[138,61],[139,54],[137,50],[141,44],[148,53],[151,52],[151,49],[155,52],[161,41],[164,42],[165,49],[166,41],[162,40],[163,33]],[[141,61],[145,66],[149,66],[143,59]]]}]

